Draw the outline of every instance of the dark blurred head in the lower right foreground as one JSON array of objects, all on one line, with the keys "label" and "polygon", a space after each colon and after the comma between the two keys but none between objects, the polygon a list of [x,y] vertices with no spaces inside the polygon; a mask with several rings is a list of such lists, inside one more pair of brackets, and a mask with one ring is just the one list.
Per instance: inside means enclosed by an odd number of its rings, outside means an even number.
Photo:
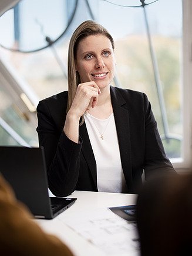
[{"label": "dark blurred head in the lower right foreground", "polygon": [[142,256],[192,255],[192,174],[146,182],[137,198]]}]

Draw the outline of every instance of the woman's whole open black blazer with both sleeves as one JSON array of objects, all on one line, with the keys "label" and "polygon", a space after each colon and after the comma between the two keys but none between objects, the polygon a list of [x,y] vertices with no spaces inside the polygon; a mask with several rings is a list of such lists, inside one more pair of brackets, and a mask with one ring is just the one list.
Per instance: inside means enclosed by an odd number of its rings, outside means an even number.
[{"label": "woman's whole open black blazer with both sleeves", "polygon": [[[137,193],[146,179],[158,172],[174,171],[164,152],[151,105],[142,92],[110,87],[120,157],[128,193]],[[79,144],[63,132],[68,91],[39,102],[39,146],[45,148],[49,188],[65,197],[75,189],[98,191],[96,161],[86,124],[79,127]]]}]

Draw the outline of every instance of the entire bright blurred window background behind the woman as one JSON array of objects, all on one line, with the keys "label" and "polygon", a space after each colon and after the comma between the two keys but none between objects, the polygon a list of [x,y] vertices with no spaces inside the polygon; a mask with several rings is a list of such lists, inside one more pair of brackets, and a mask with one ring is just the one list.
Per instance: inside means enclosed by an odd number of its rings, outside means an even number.
[{"label": "entire bright blurred window background behind the woman", "polygon": [[147,94],[166,153],[191,164],[191,1],[21,0],[0,18],[0,144],[38,147],[36,105],[68,89],[70,36],[86,19],[115,41],[113,85]]}]

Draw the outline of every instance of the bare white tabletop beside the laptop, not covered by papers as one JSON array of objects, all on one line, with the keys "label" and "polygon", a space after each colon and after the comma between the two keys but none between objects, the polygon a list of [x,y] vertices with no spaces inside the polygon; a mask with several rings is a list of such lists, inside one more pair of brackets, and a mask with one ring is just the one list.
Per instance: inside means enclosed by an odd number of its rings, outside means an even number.
[{"label": "bare white tabletop beside the laptop, not covered by papers", "polygon": [[[55,234],[67,244],[76,256],[106,256],[106,254],[91,244],[77,232],[68,227],[62,219],[72,220],[74,216],[77,217],[79,212],[98,210],[108,207],[117,207],[122,205],[132,205],[136,203],[136,195],[106,193],[106,192],[87,192],[75,191],[69,197],[78,198],[68,210],[59,214],[53,220],[35,220],[46,232]],[[130,254],[129,254],[130,255]],[[134,254],[135,255],[135,254]]]}]

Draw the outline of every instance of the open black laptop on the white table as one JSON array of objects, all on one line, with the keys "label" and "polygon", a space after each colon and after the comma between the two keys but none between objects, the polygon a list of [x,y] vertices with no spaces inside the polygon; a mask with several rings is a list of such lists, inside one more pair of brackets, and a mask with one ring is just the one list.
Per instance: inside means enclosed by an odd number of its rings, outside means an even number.
[{"label": "open black laptop on the white table", "polygon": [[1,146],[0,172],[36,218],[52,219],[77,200],[49,197],[43,148]]}]

